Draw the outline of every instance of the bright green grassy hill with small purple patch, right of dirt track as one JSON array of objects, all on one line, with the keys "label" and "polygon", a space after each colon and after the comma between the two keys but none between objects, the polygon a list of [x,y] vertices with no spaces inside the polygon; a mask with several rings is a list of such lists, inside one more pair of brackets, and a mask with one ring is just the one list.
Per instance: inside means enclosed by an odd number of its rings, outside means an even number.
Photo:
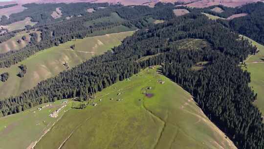
[{"label": "bright green grassy hill with small purple patch, right of dirt track", "polygon": [[117,82],[94,101],[66,112],[35,149],[235,149],[189,93],[154,69]]}]

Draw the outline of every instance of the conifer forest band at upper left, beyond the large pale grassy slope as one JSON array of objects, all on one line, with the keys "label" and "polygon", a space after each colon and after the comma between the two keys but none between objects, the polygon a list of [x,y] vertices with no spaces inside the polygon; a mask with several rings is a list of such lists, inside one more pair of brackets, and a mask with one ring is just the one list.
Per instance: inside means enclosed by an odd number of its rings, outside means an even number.
[{"label": "conifer forest band at upper left, beyond the large pale grassy slope", "polygon": [[[170,11],[168,11],[168,9]],[[121,12],[127,10],[126,14]],[[140,14],[131,16],[133,12],[142,10]],[[150,12],[148,12],[151,10]],[[105,17],[110,17],[111,13],[122,14],[120,17],[123,19],[128,19],[124,21],[116,22],[99,22],[93,25],[86,25],[86,23],[94,20],[100,20]],[[144,28],[150,25],[148,18],[153,17],[157,19],[162,19],[161,16],[167,16],[167,19],[174,17],[172,4],[167,6],[163,4],[157,4],[154,8],[148,6],[111,6],[109,8],[100,9],[94,13],[89,13],[83,17],[75,17],[70,20],[65,20],[62,22],[53,22],[46,24],[39,24],[32,26],[31,30],[41,31],[40,42],[31,42],[26,47],[21,50],[11,50],[6,53],[0,54],[0,68],[10,67],[27,57],[35,54],[38,51],[59,46],[62,43],[66,43],[72,39],[85,38],[87,36],[102,35],[104,31],[111,30],[116,26],[126,26],[128,30],[137,28]],[[110,31],[111,32],[111,31]],[[11,33],[9,33],[11,34]],[[34,40],[35,36],[31,37]],[[34,40],[35,41],[35,40]]]}]

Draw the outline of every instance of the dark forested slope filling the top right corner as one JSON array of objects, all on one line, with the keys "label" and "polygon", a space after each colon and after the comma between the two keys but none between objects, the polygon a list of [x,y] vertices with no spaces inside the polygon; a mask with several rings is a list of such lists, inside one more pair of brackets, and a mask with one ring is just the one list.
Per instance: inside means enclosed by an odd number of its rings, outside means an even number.
[{"label": "dark forested slope filling the top right corner", "polygon": [[[214,12],[213,8],[219,7],[222,12]],[[210,6],[207,8],[190,8],[185,6],[176,7],[176,9],[184,8],[193,13],[208,13],[214,16],[218,16],[223,19],[235,14],[246,14],[246,16],[230,19],[219,20],[219,22],[225,27],[245,35],[261,44],[264,44],[264,2],[255,2],[243,5],[241,7],[225,7],[222,5]]]}]

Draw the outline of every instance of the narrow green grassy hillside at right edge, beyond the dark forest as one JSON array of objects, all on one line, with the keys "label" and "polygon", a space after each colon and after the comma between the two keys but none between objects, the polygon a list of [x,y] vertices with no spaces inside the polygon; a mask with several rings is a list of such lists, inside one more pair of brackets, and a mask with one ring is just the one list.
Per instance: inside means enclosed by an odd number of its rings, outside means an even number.
[{"label": "narrow green grassy hillside at right edge, beyond the dark forest", "polygon": [[249,42],[252,42],[260,50],[256,55],[250,55],[245,61],[246,67],[242,68],[251,73],[250,86],[258,94],[254,104],[259,107],[264,115],[264,46],[248,37],[243,37],[247,38]]}]

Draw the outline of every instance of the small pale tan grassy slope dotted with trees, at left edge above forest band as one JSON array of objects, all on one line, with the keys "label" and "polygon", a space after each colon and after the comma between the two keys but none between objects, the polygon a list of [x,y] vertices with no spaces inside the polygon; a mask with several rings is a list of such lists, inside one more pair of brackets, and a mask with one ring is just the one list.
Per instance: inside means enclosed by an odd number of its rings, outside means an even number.
[{"label": "small pale tan grassy slope dotted with trees, at left edge above forest band", "polygon": [[[40,37],[40,31],[30,31],[30,33],[32,32],[36,32],[39,36],[38,36],[38,40],[41,39]],[[22,36],[26,36],[26,41],[23,41],[21,38]],[[21,40],[21,43],[19,44],[17,41]],[[24,48],[28,42],[30,41],[30,35],[29,33],[26,33],[26,31],[22,31],[20,33],[18,33],[15,37],[12,37],[11,39],[7,40],[6,42],[3,42],[0,44],[0,53],[5,53],[8,52],[10,50],[20,50],[22,48]]]}]

